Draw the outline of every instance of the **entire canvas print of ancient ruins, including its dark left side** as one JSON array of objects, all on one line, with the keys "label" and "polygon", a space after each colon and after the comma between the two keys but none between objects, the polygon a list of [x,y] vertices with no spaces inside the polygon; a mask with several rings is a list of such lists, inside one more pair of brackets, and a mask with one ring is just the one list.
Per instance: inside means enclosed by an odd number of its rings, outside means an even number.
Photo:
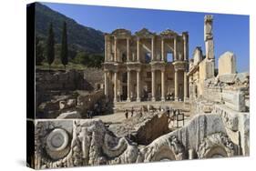
[{"label": "entire canvas print of ancient ruins, including its dark left side", "polygon": [[89,27],[61,6],[27,5],[27,166],[250,155],[249,33],[220,22],[249,17],[116,7],[156,18]]}]

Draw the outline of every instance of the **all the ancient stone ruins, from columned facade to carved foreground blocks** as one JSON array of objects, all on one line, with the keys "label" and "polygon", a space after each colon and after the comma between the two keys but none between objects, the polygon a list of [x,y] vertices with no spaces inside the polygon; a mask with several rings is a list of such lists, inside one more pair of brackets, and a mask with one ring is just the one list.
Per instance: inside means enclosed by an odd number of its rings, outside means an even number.
[{"label": "all the ancient stone ruins, from columned facade to carved foreground blocks", "polygon": [[[38,76],[36,168],[249,156],[250,75],[231,52],[215,69],[212,24],[206,15],[205,55],[197,46],[189,59],[187,32],[117,29],[98,79]],[[95,104],[102,110],[88,118]]]}]

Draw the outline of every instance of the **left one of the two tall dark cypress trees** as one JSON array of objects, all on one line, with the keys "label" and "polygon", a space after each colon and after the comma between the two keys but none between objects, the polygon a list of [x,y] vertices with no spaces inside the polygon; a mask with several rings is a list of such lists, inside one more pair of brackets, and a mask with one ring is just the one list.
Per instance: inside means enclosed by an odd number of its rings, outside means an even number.
[{"label": "left one of the two tall dark cypress trees", "polygon": [[47,56],[47,63],[49,65],[49,70],[51,64],[55,60],[55,35],[53,31],[53,25],[50,23],[49,30],[48,30],[48,37],[46,43],[46,56]]}]

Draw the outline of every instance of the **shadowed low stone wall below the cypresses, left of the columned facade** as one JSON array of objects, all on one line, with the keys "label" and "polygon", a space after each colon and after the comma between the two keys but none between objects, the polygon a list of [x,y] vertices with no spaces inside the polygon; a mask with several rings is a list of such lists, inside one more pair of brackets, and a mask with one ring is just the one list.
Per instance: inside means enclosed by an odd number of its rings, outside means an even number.
[{"label": "shadowed low stone wall below the cypresses, left of the columned facade", "polygon": [[68,70],[66,72],[36,71],[36,91],[94,90],[102,88],[103,72],[96,68]]}]

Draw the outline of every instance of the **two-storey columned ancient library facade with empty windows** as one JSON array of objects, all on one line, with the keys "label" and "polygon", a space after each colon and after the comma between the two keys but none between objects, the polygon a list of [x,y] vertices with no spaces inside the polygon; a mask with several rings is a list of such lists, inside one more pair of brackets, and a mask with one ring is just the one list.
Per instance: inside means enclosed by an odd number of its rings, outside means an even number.
[{"label": "two-storey columned ancient library facade with empty windows", "polygon": [[143,28],[105,35],[105,95],[114,102],[189,97],[189,35]]}]

